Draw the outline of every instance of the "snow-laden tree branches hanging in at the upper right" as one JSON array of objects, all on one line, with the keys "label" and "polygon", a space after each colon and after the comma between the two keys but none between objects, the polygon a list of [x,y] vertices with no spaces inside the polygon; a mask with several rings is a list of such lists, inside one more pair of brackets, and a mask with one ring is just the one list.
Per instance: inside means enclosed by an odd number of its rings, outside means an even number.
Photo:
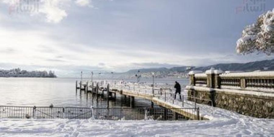
[{"label": "snow-laden tree branches hanging in at the upper right", "polygon": [[274,53],[274,9],[260,15],[256,23],[244,28],[236,49],[241,54],[255,51],[267,55]]}]

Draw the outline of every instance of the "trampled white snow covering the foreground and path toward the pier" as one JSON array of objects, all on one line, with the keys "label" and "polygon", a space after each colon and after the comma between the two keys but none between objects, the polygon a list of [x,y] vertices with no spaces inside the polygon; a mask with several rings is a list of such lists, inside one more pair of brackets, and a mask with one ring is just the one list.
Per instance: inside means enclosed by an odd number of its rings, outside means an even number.
[{"label": "trampled white snow covering the foreground and path toward the pier", "polygon": [[[184,100],[184,107],[193,107],[193,102]],[[179,100],[173,104],[170,96],[167,101],[174,107],[182,107]],[[274,136],[274,119],[252,118],[203,104],[197,106],[200,115],[210,120],[0,119],[0,136]]]}]

